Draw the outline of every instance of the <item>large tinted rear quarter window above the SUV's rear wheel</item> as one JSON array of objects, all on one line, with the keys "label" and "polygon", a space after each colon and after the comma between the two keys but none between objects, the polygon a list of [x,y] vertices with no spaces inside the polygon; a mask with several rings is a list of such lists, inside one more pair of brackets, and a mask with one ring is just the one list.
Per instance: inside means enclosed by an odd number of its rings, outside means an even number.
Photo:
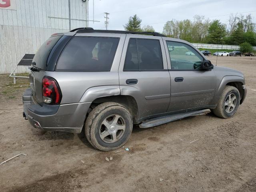
[{"label": "large tinted rear quarter window above the SUV's rear wheel", "polygon": [[110,71],[119,38],[74,37],[64,48],[56,71]]}]

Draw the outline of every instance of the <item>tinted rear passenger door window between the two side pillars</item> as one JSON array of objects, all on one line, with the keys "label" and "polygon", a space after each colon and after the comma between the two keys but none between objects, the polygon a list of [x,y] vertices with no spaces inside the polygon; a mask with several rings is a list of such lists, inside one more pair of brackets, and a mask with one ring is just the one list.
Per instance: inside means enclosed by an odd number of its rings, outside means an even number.
[{"label": "tinted rear passenger door window between the two side pillars", "polygon": [[163,59],[159,40],[130,38],[124,71],[162,70]]}]

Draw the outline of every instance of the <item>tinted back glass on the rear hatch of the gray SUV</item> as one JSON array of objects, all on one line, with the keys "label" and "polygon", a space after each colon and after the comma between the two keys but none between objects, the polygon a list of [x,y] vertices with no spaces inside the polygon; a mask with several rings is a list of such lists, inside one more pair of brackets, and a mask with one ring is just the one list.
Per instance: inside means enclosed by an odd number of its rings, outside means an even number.
[{"label": "tinted back glass on the rear hatch of the gray SUV", "polygon": [[61,37],[62,36],[54,36],[46,40],[46,42],[44,42],[44,44],[42,44],[37,50],[33,58],[32,65],[42,70],[46,70],[49,54],[54,45],[58,42],[58,40],[60,40]]}]

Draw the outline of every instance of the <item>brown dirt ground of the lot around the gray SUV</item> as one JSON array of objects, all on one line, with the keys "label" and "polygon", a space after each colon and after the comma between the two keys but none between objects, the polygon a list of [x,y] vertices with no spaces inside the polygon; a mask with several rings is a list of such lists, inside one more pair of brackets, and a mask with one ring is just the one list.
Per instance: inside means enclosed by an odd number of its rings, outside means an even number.
[{"label": "brown dirt ground of the lot around the gray SUV", "polygon": [[[209,59],[216,63],[216,57]],[[134,127],[125,145],[130,150],[118,153],[95,150],[84,134],[38,134],[22,117],[21,93],[28,82],[17,80],[16,87],[0,76],[0,162],[27,154],[0,166],[0,191],[255,192],[256,57],[218,57],[218,66],[246,77],[248,94],[233,118],[209,113]]]}]

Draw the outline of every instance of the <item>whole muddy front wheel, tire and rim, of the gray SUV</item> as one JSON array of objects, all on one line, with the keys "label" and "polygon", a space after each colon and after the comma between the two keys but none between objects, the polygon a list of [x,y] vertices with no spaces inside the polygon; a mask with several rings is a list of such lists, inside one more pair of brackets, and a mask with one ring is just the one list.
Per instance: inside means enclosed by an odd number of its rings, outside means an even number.
[{"label": "whole muddy front wheel, tire and rim, of the gray SUV", "polygon": [[212,112],[220,118],[230,118],[236,113],[240,102],[240,93],[233,86],[226,86],[218,100],[217,107]]}]

